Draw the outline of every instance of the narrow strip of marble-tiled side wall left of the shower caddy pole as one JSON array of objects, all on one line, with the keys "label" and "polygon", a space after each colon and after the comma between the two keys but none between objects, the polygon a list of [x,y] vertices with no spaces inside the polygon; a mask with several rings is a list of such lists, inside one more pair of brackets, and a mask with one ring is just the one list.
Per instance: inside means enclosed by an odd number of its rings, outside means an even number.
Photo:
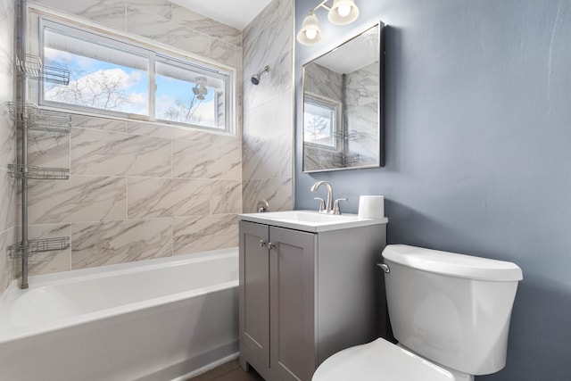
[{"label": "narrow strip of marble-tiled side wall left of the shower caddy pole", "polygon": [[6,248],[15,241],[16,183],[7,165],[16,162],[16,130],[5,103],[13,101],[14,2],[0,0],[0,294],[14,277]]}]

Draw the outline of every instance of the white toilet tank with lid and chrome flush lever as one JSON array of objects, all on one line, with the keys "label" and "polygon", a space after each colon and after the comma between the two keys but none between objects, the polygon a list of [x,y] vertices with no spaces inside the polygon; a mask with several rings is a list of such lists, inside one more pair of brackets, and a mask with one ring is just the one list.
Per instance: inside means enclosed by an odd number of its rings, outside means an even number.
[{"label": "white toilet tank with lid and chrome flush lever", "polygon": [[405,244],[387,245],[383,258],[399,343],[470,375],[505,366],[509,319],[523,278],[515,263]]}]

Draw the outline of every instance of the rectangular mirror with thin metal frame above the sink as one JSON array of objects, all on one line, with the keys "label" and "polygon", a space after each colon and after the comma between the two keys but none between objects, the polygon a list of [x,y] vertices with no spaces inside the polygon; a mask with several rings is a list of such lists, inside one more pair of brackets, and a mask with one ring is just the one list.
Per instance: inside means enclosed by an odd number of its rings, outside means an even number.
[{"label": "rectangular mirror with thin metal frame above the sink", "polygon": [[304,172],[383,167],[384,24],[303,65]]}]

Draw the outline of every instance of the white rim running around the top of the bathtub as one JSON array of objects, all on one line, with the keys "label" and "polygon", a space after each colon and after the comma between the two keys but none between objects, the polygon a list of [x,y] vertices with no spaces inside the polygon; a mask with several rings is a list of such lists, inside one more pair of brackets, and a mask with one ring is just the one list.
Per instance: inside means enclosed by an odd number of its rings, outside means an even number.
[{"label": "white rim running around the top of the bathtub", "polygon": [[[232,248],[213,250],[208,252],[176,255],[174,257],[155,258],[145,261],[127,262],[127,263],[118,263],[107,266],[100,266],[91,269],[75,269],[70,271],[62,271],[54,274],[32,276],[29,277],[29,288],[26,290],[21,290],[21,288],[18,286],[19,279],[13,279],[12,282],[10,283],[10,286],[8,286],[8,288],[6,288],[6,290],[4,291],[4,294],[0,295],[0,307],[4,305],[12,305],[14,300],[19,298],[21,294],[25,294],[26,292],[29,292],[37,288],[41,288],[43,286],[73,283],[78,279],[85,281],[97,277],[102,277],[102,275],[106,277],[123,275],[123,274],[128,274],[130,272],[136,272],[138,269],[157,269],[164,267],[174,267],[181,264],[186,264],[188,262],[193,263],[193,262],[211,261],[227,257],[236,257],[236,270],[237,270],[238,248],[232,247]],[[0,345],[9,344],[11,342],[18,341],[21,339],[26,339],[34,335],[43,335],[61,329],[65,329],[67,327],[76,327],[81,324],[86,324],[96,320],[108,319],[113,316],[144,310],[145,308],[149,307],[160,307],[170,303],[183,301],[185,299],[192,298],[195,296],[214,293],[217,291],[237,286],[238,286],[238,278],[236,277],[236,280],[223,282],[213,286],[197,287],[192,290],[180,293],[163,295],[151,299],[146,299],[145,301],[132,302],[120,306],[115,306],[112,308],[107,308],[100,311],[88,312],[70,317],[68,319],[60,319],[60,320],[55,320],[53,322],[48,322],[46,324],[27,326],[29,327],[29,329],[23,332],[10,332],[9,330],[3,330],[2,327],[0,327]],[[12,320],[10,319],[9,315],[10,315],[10,309],[7,308],[0,309],[0,322],[4,321],[10,323],[9,327],[16,327],[12,324]]]}]

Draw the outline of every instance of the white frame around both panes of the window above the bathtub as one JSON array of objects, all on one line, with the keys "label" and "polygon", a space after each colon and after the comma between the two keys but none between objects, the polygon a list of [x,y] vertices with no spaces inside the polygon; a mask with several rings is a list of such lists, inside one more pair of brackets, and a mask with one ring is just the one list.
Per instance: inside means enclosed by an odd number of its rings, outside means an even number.
[{"label": "white frame around both panes of the window above the bathtub", "polygon": [[[37,37],[37,44],[30,46],[32,52],[36,51],[37,55],[44,62],[44,30],[45,28],[61,31],[62,33],[70,30],[77,31],[77,36],[95,44],[110,46],[121,50],[121,47],[127,47],[128,54],[144,55],[148,59],[147,69],[147,85],[148,85],[148,115],[132,114],[128,112],[117,112],[113,110],[105,110],[95,107],[88,107],[78,104],[65,104],[61,102],[49,101],[44,98],[44,81],[29,81],[29,98],[36,99],[37,104],[43,108],[79,113],[82,115],[93,115],[103,118],[118,118],[135,122],[152,122],[164,124],[170,127],[200,129],[217,133],[227,133],[236,135],[236,72],[237,68],[221,64],[219,62],[209,62],[202,57],[196,57],[193,54],[178,51],[171,46],[162,46],[161,43],[150,40],[145,37],[136,35],[128,36],[128,33],[118,33],[112,29],[102,27],[91,22],[70,21],[68,18],[51,12],[45,12],[37,9],[29,9],[29,18],[32,30],[32,36]],[[37,29],[36,29],[37,28]],[[76,37],[76,35],[73,35]],[[33,38],[32,38],[33,41]],[[159,44],[161,46],[159,46]],[[33,53],[32,53],[33,54]],[[224,128],[209,127],[180,121],[163,120],[155,118],[156,104],[156,83],[155,83],[155,62],[159,60],[169,60],[178,62],[178,64],[189,68],[198,68],[206,72],[215,73],[225,83],[225,99],[224,99]]]}]

